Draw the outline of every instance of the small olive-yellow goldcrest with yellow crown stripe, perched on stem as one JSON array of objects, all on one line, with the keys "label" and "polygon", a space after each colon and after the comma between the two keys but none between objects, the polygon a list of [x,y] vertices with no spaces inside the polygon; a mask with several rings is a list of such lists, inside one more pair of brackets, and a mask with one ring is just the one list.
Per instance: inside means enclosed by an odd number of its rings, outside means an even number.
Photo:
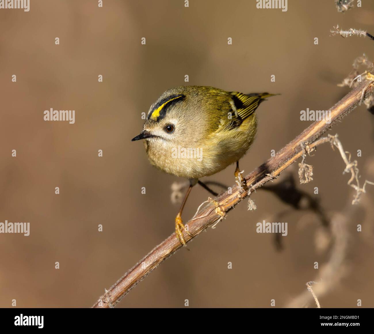
[{"label": "small olive-yellow goldcrest with yellow crown stripe, perched on stem", "polygon": [[[151,105],[143,131],[132,139],[144,140],[152,165],[161,171],[190,180],[175,218],[177,239],[186,245],[181,214],[191,188],[199,178],[236,163],[235,177],[248,190],[239,169],[239,159],[254,141],[257,117],[254,111],[264,99],[277,94],[226,92],[203,86],[169,89]],[[214,193],[216,194],[216,193]]]}]

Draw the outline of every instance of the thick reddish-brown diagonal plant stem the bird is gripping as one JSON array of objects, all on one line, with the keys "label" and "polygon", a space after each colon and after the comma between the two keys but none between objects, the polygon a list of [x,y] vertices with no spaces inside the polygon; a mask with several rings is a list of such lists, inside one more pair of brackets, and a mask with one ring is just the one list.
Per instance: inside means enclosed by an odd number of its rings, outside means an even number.
[{"label": "thick reddish-brown diagonal plant stem the bird is gripping", "polygon": [[[283,147],[274,157],[264,162],[254,171],[245,177],[249,190],[242,192],[237,185],[232,187],[232,193],[226,191],[211,200],[203,209],[186,225],[189,232],[193,235],[199,235],[203,230],[215,223],[217,220],[226,216],[227,212],[234,208],[251,192],[261,187],[268,181],[278,177],[286,168],[292,165],[297,159],[305,154],[306,145],[312,150],[319,144],[328,140],[320,138],[328,129],[339,122],[344,116],[349,114],[357,107],[361,101],[362,92],[368,80],[363,80],[352,91],[344,96],[337,104],[331,108],[331,123],[324,120],[316,121],[306,128],[294,140]],[[372,89],[365,89],[365,98],[372,95]],[[186,242],[191,240],[190,236],[185,233]],[[142,258],[134,267],[123,275],[109,290],[99,297],[94,308],[113,307],[124,297],[135,285],[145,278],[153,269],[162,261],[174,254],[181,248],[180,242],[175,238],[175,233],[165,239],[162,243],[153,248],[144,258]]]}]

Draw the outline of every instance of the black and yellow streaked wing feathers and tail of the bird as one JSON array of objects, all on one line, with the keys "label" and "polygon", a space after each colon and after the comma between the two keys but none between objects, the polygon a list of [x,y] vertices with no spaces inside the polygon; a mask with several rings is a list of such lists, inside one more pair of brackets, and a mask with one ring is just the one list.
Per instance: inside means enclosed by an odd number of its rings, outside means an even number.
[{"label": "black and yellow streaked wing feathers and tail of the bird", "polygon": [[231,98],[234,105],[234,113],[238,118],[238,125],[240,125],[243,120],[250,116],[257,107],[260,105],[264,99],[269,96],[276,94],[269,93],[252,93],[252,94],[242,94],[239,92],[231,92]]}]

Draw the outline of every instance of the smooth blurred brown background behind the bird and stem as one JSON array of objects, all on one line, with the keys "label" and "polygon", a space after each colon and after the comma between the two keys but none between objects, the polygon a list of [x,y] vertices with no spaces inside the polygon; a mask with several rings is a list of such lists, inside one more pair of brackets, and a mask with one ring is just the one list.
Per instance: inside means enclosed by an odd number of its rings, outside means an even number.
[{"label": "smooth blurred brown background behind the bird and stem", "polygon": [[[130,141],[142,128],[141,112],[166,89],[188,84],[282,94],[258,109],[257,140],[240,165],[248,174],[310,125],[300,121],[300,110],[328,109],[349,91],[336,84],[357,56],[374,60],[373,41],[329,36],[336,24],[373,34],[369,1],[346,13],[333,0],[290,0],[287,12],[256,9],[255,0],[191,0],[188,8],[183,0],[104,0],[102,8],[97,2],[31,0],[30,12],[0,10],[0,221],[30,222],[28,237],[0,235],[1,307],[12,299],[19,307],[90,307],[174,231],[178,205],[171,204],[170,187],[183,180],[154,169],[142,143]],[[50,108],[74,109],[76,123],[45,122]],[[374,180],[373,122],[362,105],[329,132],[358,160],[362,183]],[[314,180],[298,187],[319,196],[329,216],[344,213],[354,190],[338,152],[325,145],[306,162]],[[232,185],[233,172],[231,166],[209,180]],[[320,293],[322,307],[356,307],[358,299],[374,307],[374,187],[367,192],[347,224],[341,272],[332,272],[336,281]],[[198,186],[192,193],[185,221],[209,196]],[[329,261],[334,239],[319,244],[326,232],[318,218],[290,210],[281,220],[288,236],[279,252],[274,235],[257,234],[256,223],[289,207],[263,190],[251,198],[257,211],[240,203],[117,307],[184,307],[185,299],[190,307],[270,307],[271,299],[285,307],[306,282],[323,280],[313,264]]]}]

